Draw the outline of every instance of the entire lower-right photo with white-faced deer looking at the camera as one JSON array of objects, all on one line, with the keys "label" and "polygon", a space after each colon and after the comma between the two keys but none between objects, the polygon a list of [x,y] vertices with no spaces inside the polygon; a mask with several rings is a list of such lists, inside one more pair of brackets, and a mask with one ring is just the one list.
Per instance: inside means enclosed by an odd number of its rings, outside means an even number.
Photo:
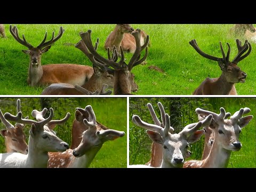
[{"label": "entire lower-right photo with white-faced deer looking at the camera", "polygon": [[256,98],[130,98],[129,167],[256,167]]}]

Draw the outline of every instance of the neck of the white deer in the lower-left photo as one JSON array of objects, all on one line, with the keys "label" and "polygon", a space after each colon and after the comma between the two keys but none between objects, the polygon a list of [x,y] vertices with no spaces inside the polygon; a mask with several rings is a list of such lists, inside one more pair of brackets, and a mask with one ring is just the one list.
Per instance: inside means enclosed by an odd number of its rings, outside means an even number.
[{"label": "neck of the white deer in the lower-left photo", "polygon": [[36,147],[36,143],[33,138],[29,138],[28,142],[28,154],[27,164],[29,167],[34,168],[46,168],[48,164],[48,152],[41,151]]}]

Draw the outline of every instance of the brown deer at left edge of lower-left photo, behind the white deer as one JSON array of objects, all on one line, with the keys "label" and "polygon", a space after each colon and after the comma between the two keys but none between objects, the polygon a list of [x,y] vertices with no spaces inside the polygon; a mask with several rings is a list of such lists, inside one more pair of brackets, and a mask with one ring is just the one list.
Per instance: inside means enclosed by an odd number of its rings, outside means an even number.
[{"label": "brown deer at left edge of lower-left photo, behind the white deer", "polygon": [[[20,111],[20,99],[17,99],[17,114]],[[28,116],[26,118],[28,118]],[[13,126],[4,118],[1,110],[0,119],[6,128],[0,130],[1,135],[5,138],[6,153],[19,152],[27,154],[28,144],[26,142],[26,134],[23,132],[25,124],[16,123],[15,126]]]}]

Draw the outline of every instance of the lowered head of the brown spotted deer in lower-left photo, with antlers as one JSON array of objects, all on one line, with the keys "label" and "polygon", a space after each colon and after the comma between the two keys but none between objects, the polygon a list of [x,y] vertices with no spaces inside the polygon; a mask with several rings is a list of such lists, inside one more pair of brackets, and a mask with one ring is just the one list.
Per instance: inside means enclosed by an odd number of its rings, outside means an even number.
[{"label": "lowered head of the brown spotted deer in lower-left photo, with antlers", "polygon": [[88,121],[86,118],[84,118],[83,122],[87,127],[89,127],[89,129],[83,132],[81,143],[73,150],[73,155],[75,157],[81,157],[89,150],[98,151],[104,142],[123,137],[125,134],[123,131],[99,129],[92,106],[86,106],[85,110],[89,114],[90,120]]}]

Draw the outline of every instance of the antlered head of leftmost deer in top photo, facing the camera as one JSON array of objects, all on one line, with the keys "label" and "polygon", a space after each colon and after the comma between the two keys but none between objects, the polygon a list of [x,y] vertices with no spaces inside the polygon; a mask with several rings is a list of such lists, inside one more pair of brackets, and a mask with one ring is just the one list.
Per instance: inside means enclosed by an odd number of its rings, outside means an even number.
[{"label": "antlered head of leftmost deer in top photo, facing the camera", "polygon": [[10,32],[17,42],[19,42],[21,45],[28,47],[28,50],[22,50],[22,52],[29,55],[29,58],[30,58],[29,66],[30,67],[40,67],[41,66],[41,55],[43,53],[47,52],[51,48],[51,45],[54,42],[56,42],[63,35],[64,30],[62,27],[60,27],[59,34],[56,37],[54,37],[54,31],[53,31],[52,38],[50,39],[50,41],[47,41],[47,42],[45,42],[46,38],[47,38],[47,32],[45,32],[43,41],[37,47],[34,47],[31,44],[29,44],[26,41],[24,34],[22,34],[22,37],[23,37],[23,40],[22,40],[19,37],[18,28],[16,26],[12,27],[12,25],[10,25]]}]

